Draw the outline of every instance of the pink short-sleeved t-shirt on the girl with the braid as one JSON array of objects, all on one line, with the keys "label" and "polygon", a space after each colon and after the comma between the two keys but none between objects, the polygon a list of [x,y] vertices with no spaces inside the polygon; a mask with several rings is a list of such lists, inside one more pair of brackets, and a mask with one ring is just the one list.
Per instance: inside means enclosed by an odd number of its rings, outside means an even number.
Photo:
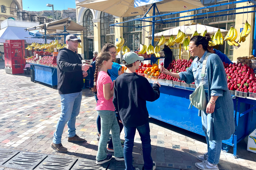
[{"label": "pink short-sleeved t-shirt on the girl with the braid", "polygon": [[95,110],[110,110],[110,111],[115,111],[115,107],[113,104],[113,97],[111,97],[109,100],[106,100],[103,95],[103,85],[110,83],[110,90],[113,89],[113,82],[111,78],[109,77],[108,73],[105,71],[100,71],[98,73],[98,78],[97,78],[97,98],[98,102],[96,105]]}]

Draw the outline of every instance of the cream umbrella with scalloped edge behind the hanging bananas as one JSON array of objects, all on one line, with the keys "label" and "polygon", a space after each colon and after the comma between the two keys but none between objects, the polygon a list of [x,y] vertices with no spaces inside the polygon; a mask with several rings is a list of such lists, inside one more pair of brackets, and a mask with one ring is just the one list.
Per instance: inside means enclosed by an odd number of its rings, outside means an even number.
[{"label": "cream umbrella with scalloped edge behind the hanging bananas", "polygon": [[[176,36],[179,30],[182,31],[183,33],[186,33],[187,36],[192,36],[195,31],[197,31],[197,33],[200,35],[205,30],[207,30],[207,32],[210,33],[210,34],[213,34],[213,33],[218,31],[218,28],[205,26],[205,25],[201,25],[201,24],[196,24],[196,23],[185,24],[183,26],[175,27],[175,28],[172,28],[172,29],[169,29],[169,30],[165,30],[165,31],[156,33],[154,35],[154,37],[155,37],[154,40],[157,41],[158,39],[160,39],[161,35],[163,35],[167,39],[171,35]],[[226,34],[228,32],[228,30],[220,29],[220,32],[223,33],[223,34]],[[148,36],[147,38],[151,39],[151,37],[152,37],[152,35]]]}]

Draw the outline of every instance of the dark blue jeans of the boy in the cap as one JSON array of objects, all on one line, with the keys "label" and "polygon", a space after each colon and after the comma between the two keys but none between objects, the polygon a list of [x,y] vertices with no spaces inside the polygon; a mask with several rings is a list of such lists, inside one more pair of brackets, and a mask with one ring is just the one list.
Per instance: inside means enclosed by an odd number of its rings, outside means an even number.
[{"label": "dark blue jeans of the boy in the cap", "polygon": [[153,160],[151,157],[151,140],[150,140],[150,128],[149,123],[138,126],[138,127],[127,127],[124,126],[125,142],[124,142],[124,162],[125,170],[134,170],[132,166],[132,148],[134,145],[134,136],[136,128],[140,134],[140,139],[142,142],[144,169],[151,170],[153,165]]}]

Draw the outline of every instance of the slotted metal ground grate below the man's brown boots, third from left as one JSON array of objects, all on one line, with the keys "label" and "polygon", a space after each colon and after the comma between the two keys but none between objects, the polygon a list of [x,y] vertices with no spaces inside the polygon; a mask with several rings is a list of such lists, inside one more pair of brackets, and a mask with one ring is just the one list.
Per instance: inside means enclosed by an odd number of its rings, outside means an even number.
[{"label": "slotted metal ground grate below the man's brown boots, third from left", "polygon": [[77,158],[72,158],[68,156],[57,156],[49,155],[42,163],[38,165],[36,170],[41,169],[63,169],[69,170],[73,164],[76,162]]}]

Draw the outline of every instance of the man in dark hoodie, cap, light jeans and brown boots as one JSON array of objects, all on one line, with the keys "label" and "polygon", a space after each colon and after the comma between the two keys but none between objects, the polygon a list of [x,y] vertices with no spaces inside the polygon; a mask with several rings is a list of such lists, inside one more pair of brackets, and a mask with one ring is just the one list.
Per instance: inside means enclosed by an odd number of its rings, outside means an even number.
[{"label": "man in dark hoodie, cap, light jeans and brown boots", "polygon": [[83,77],[91,65],[82,64],[82,57],[76,53],[78,43],[81,42],[75,35],[66,37],[67,48],[59,50],[57,56],[58,90],[61,102],[61,115],[58,120],[53,142],[50,146],[56,152],[67,152],[67,148],[61,144],[61,136],[64,127],[68,125],[68,141],[83,142],[85,139],[76,134],[76,117],[80,111],[82,100]]}]

